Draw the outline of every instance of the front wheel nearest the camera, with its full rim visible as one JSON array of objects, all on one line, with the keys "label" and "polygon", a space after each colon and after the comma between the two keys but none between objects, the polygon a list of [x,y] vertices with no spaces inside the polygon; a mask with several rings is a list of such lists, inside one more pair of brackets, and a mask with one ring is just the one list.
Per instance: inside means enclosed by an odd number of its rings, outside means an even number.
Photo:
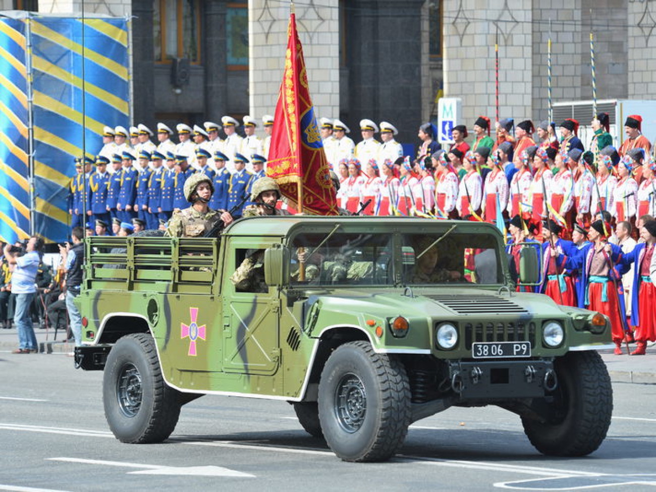
[{"label": "front wheel nearest the camera, with its full rim visible", "polygon": [[350,342],[327,360],[319,381],[319,420],[326,442],[344,461],[384,461],[405,440],[410,384],[399,359]]}]

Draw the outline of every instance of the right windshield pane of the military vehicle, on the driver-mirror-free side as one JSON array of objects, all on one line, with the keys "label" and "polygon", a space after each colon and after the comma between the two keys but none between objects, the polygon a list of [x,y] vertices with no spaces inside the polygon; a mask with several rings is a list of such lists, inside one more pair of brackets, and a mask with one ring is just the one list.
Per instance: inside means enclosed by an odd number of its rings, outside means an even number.
[{"label": "right windshield pane of the military vehicle, on the driver-mirror-free side", "polygon": [[502,283],[498,243],[490,234],[403,234],[401,243],[405,285]]}]

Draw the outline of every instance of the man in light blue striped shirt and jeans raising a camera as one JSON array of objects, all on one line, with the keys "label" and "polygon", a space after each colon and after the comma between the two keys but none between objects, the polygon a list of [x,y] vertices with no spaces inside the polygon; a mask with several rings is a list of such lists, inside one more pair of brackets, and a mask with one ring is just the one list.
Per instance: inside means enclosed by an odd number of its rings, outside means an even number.
[{"label": "man in light blue striped shirt and jeans raising a camera", "polygon": [[30,354],[38,352],[37,337],[30,316],[30,306],[36,294],[35,279],[39,264],[41,264],[41,251],[43,239],[32,236],[25,246],[25,254],[19,255],[19,248],[5,246],[4,253],[12,270],[11,293],[16,295],[16,309],[14,310],[14,325],[18,330],[18,348],[12,354]]}]

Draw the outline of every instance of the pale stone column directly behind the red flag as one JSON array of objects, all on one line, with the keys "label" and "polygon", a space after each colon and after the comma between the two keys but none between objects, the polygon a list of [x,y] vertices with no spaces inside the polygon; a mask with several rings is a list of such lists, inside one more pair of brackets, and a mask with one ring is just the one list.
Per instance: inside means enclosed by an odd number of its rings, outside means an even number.
[{"label": "pale stone column directly behind the red flag", "polygon": [[[296,5],[310,95],[318,117],[339,112],[339,2]],[[287,49],[289,5],[249,0],[249,107],[256,118],[274,114]]]}]

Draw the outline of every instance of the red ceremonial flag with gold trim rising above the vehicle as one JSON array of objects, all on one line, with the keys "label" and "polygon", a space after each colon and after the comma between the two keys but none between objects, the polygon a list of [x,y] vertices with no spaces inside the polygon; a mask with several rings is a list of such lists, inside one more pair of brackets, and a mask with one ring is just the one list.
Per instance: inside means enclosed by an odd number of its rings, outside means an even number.
[{"label": "red ceremonial flag with gold trim rising above the vehicle", "polygon": [[267,176],[277,181],[290,205],[299,212],[338,215],[330,166],[310,100],[295,14],[291,14],[287,28],[285,72],[266,165]]}]

